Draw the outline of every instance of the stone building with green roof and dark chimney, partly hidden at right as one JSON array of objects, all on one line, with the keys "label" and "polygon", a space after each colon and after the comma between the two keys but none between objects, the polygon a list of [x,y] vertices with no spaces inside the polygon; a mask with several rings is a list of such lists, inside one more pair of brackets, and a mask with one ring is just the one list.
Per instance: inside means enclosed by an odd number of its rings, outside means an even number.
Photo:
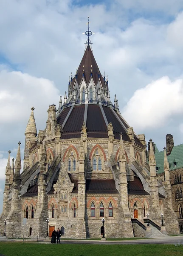
[{"label": "stone building with green roof and dark chimney, partly hidden at right", "polygon": [[[173,136],[166,134],[166,155],[170,170],[172,205],[177,215],[180,232],[183,233],[183,144],[174,146]],[[155,151],[156,171],[164,180],[163,151]]]}]

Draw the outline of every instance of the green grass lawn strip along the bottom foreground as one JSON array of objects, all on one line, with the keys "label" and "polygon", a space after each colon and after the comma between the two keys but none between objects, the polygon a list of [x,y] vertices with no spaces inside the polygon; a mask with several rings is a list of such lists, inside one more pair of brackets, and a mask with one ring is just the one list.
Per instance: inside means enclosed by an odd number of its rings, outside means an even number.
[{"label": "green grass lawn strip along the bottom foreground", "polygon": [[182,256],[174,244],[29,244],[0,242],[5,256]]}]

